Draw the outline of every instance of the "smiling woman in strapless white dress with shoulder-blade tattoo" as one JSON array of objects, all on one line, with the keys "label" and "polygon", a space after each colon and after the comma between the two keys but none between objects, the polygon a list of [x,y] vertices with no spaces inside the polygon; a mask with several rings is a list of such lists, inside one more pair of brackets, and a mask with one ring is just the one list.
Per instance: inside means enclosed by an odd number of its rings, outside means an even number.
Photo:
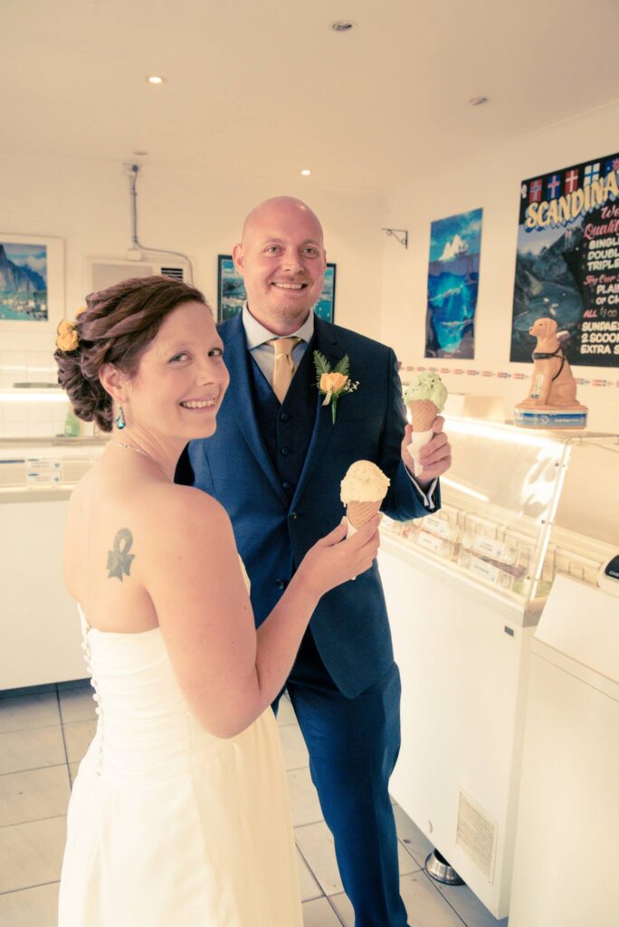
[{"label": "smiling woman in strapless white dress with shoulder-blade tattoo", "polygon": [[190,438],[215,430],[222,354],[202,294],[166,277],[95,293],[60,326],[58,382],[112,436],[69,506],[65,580],[98,721],[59,927],[302,925],[270,705],[321,596],[372,565],[379,517],[319,540],[256,631],[227,514],[173,483]]}]

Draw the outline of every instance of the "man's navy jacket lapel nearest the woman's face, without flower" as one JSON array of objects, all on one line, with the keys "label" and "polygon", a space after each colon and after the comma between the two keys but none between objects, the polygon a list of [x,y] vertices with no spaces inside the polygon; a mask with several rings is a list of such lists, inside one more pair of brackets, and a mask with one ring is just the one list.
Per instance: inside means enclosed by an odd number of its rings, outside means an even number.
[{"label": "man's navy jacket lapel nearest the woman's face, without flower", "polygon": [[254,410],[254,400],[249,382],[249,364],[252,363],[252,360],[246,346],[241,315],[237,315],[230,323],[223,325],[220,334],[225,345],[225,364],[230,373],[230,387],[228,387],[224,403],[230,403],[249,450],[256,457],[275,493],[287,508],[288,500],[280,484],[269,451],[267,451],[260,434]]}]

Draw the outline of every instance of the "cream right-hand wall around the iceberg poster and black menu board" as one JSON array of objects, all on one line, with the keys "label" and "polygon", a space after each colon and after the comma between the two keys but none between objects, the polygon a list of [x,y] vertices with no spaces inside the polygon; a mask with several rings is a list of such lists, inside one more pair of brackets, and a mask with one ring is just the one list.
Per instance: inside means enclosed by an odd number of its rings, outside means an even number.
[{"label": "cream right-hand wall around the iceberg poster and black menu board", "polygon": [[[441,376],[454,392],[503,396],[509,413],[515,402],[525,398],[531,365],[509,362],[521,182],[613,154],[619,149],[617,126],[619,105],[614,105],[514,138],[509,145],[480,151],[462,163],[454,150],[448,171],[414,176],[411,166],[411,184],[391,192],[383,222],[409,230],[408,250],[393,238],[385,239],[383,249],[382,339],[396,349],[405,365],[484,371],[484,376]],[[479,207],[484,219],[474,361],[424,359],[430,222]],[[498,378],[497,372],[512,377]],[[578,366],[574,373],[583,379],[610,381],[608,387],[579,387],[578,398],[589,407],[590,427],[619,431],[619,368]],[[514,380],[514,374],[527,379]]]}]

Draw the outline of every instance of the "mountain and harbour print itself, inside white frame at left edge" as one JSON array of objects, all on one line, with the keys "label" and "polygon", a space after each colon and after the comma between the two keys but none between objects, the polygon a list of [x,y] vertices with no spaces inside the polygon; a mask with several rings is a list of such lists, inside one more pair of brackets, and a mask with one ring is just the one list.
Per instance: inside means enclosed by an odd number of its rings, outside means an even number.
[{"label": "mountain and harbour print itself, inside white frame at left edge", "polygon": [[0,320],[47,322],[47,248],[0,237]]}]

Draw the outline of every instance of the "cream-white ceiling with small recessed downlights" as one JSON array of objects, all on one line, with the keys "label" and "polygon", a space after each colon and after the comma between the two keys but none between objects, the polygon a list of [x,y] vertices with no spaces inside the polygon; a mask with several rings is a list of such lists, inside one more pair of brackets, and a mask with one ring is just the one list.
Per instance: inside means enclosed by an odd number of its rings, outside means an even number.
[{"label": "cream-white ceiling with small recessed downlights", "polygon": [[618,27],[616,0],[0,0],[0,151],[386,189],[612,102]]}]

